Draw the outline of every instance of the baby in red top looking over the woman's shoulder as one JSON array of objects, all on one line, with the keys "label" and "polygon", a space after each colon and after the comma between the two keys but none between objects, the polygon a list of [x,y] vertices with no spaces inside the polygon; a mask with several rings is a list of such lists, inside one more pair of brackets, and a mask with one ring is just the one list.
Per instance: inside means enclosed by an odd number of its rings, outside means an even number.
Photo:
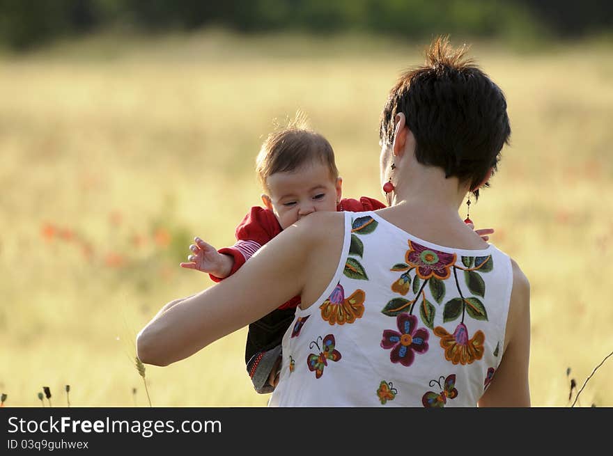
[{"label": "baby in red top looking over the woman's shoulder", "polygon": [[[219,282],[234,274],[261,246],[302,217],[317,211],[362,212],[385,207],[373,198],[341,199],[343,180],[334,151],[320,134],[302,125],[271,133],[256,159],[256,172],[265,191],[264,207],[251,207],[236,228],[237,242],[215,249],[199,237],[182,267],[208,272]],[[260,320],[249,324],[245,347],[247,372],[258,393],[274,389],[281,359],[281,339],[293,321],[300,296],[293,297]]]}]

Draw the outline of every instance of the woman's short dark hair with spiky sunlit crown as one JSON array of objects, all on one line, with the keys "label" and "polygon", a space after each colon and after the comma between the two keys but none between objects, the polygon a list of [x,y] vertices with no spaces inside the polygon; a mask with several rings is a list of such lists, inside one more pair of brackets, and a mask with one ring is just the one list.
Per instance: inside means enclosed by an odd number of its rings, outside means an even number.
[{"label": "woman's short dark hair with spiky sunlit crown", "polygon": [[453,49],[439,37],[424,66],[404,72],[391,88],[380,119],[380,139],[394,141],[394,119],[404,113],[421,164],[439,166],[475,189],[494,171],[511,126],[500,88],[471,59],[467,47]]}]

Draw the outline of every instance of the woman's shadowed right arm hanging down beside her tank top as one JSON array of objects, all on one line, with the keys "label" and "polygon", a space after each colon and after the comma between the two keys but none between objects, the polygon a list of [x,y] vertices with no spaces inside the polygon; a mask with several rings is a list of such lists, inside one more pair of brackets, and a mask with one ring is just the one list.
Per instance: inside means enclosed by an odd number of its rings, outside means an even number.
[{"label": "woman's shadowed right arm hanging down beside her tank top", "polygon": [[506,322],[509,344],[479,407],[530,407],[530,283],[517,263],[511,260],[511,264],[513,290]]}]

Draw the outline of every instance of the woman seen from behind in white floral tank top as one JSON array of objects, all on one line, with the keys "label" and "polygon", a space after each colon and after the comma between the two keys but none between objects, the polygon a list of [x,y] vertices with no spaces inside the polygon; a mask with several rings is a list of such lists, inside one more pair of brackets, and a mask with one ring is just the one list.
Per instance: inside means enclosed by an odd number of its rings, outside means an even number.
[{"label": "woman seen from behind in white floral tank top", "polygon": [[139,358],[185,359],[300,294],[271,405],[528,407],[529,283],[458,216],[511,132],[502,91],[464,54],[437,39],[391,89],[389,207],[304,217],[223,283],[166,304]]}]

